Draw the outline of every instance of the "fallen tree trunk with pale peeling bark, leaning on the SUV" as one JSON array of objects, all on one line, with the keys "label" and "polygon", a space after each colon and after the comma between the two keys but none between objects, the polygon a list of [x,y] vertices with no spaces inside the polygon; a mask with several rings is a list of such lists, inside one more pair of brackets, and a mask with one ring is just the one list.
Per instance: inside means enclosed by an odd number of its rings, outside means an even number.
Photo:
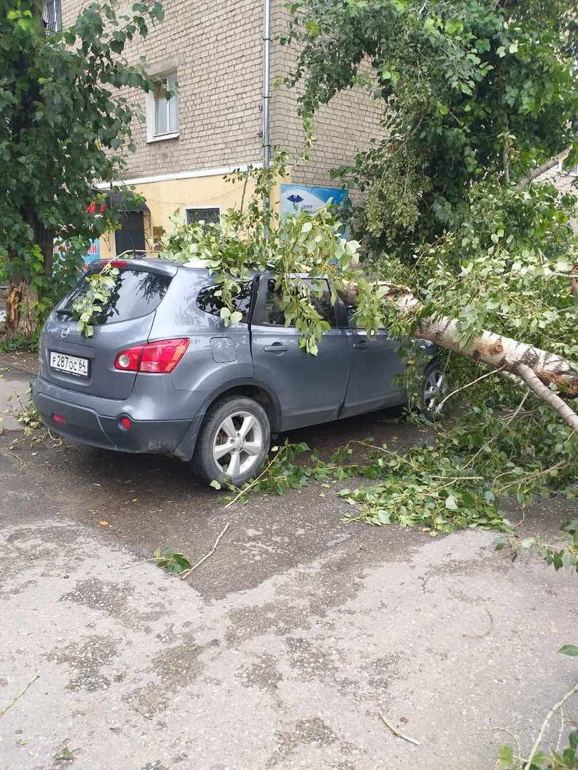
[{"label": "fallen tree trunk with pale peeling bark, leaning on the SUV", "polygon": [[[386,283],[381,283],[380,286],[388,287],[384,302],[393,303],[402,313],[415,313],[418,309],[418,300],[407,288]],[[338,290],[338,294],[344,303],[350,306],[357,304],[359,290],[355,284],[348,284]],[[556,410],[567,425],[578,431],[578,414],[560,396],[549,390],[549,385],[556,385],[564,393],[578,397],[578,363],[489,331],[483,331],[472,343],[462,346],[458,341],[458,321],[451,318],[421,319],[415,336],[446,350],[461,353],[472,360],[486,363],[500,372],[515,374],[530,390]]]}]

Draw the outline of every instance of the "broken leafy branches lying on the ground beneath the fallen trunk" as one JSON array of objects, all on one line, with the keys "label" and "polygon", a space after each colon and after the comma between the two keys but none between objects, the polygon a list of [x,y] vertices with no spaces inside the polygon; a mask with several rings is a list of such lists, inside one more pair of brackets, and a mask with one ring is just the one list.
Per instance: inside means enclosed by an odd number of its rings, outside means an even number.
[{"label": "broken leafy branches lying on the ground beneath the fallen trunk", "polygon": [[[485,413],[473,407],[406,454],[367,439],[340,447],[329,460],[321,460],[316,450],[304,460],[300,456],[309,450],[307,444],[286,442],[274,447],[273,459],[256,480],[223,500],[246,501],[252,492],[284,494],[311,481],[330,489],[340,480],[361,478],[365,479],[361,486],[337,491],[353,507],[344,521],[374,526],[396,522],[432,537],[468,527],[502,530],[508,534],[499,547],[506,542],[516,547],[512,524],[500,510],[503,497],[528,503],[536,494],[547,497],[553,489],[570,498],[578,496],[574,485],[578,438],[567,440],[566,428],[537,401],[529,406],[515,415],[516,410],[506,410],[503,403],[496,403],[493,410],[486,407]],[[549,444],[542,447],[540,457],[533,447],[543,438],[545,418]],[[558,459],[548,465],[545,460],[556,454],[556,447]],[[574,524],[565,527],[575,539]],[[528,548],[529,541],[519,547]],[[576,554],[571,562],[571,553],[553,551],[546,561],[555,567],[573,566]]]}]

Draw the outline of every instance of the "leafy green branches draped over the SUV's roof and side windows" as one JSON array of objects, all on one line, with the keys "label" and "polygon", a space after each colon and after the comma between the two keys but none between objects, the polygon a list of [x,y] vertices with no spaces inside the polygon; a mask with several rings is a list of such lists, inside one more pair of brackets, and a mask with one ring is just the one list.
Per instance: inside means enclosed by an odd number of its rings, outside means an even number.
[{"label": "leafy green branches draped over the SUV's roof and side windows", "polygon": [[223,302],[221,317],[227,325],[240,320],[234,305],[240,283],[250,279],[251,270],[271,270],[284,295],[280,309],[285,323],[301,332],[300,346],[315,355],[329,328],[311,301],[312,295],[323,293],[321,280],[328,277],[333,300],[348,283],[366,290],[355,318],[368,333],[383,325],[381,300],[387,289],[371,289],[358,264],[359,244],[341,236],[342,223],[328,209],[289,216],[281,225],[276,211],[261,208],[262,196],[269,196],[274,182],[284,176],[286,162],[287,154],[280,152],[267,169],[237,175],[245,185],[249,179],[255,182],[246,211],[229,209],[220,223],[189,225],[173,219],[160,257],[183,263],[203,260],[218,284],[215,296]]}]

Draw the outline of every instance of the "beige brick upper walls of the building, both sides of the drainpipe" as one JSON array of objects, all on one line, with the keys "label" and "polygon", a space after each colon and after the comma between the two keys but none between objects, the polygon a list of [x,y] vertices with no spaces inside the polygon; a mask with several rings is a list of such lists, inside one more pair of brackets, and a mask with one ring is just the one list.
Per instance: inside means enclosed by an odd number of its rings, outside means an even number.
[{"label": "beige brick upper walls of the building, both sides of the drainpipe", "polygon": [[[132,3],[123,2],[126,8]],[[287,23],[284,0],[271,0],[272,34]],[[82,0],[62,0],[69,25]],[[164,0],[165,20],[128,49],[129,59],[145,55],[151,72],[176,65],[179,80],[179,137],[146,141],[146,126],[134,121],[136,153],[127,158],[126,179],[236,166],[262,159],[261,0]],[[121,5],[122,8],[122,5]],[[286,75],[294,51],[271,45],[271,81]],[[145,96],[133,93],[144,112]],[[298,89],[271,91],[271,142],[298,159],[303,131],[297,115]],[[356,149],[379,134],[380,109],[367,92],[348,90],[317,116],[318,144],[311,160],[292,174],[297,183],[328,185],[329,169],[350,161]]]}]

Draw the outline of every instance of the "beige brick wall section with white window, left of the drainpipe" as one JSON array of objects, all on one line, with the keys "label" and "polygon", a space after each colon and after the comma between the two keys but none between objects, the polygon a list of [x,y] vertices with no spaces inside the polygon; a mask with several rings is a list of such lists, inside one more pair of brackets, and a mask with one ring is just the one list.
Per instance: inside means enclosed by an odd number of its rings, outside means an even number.
[{"label": "beige brick wall section with white window, left of the drainpipe", "polygon": [[[62,0],[71,23],[77,0]],[[261,159],[261,29],[259,2],[164,0],[165,19],[146,39],[129,46],[128,58],[145,55],[151,72],[177,65],[178,139],[146,141],[146,126],[134,121],[136,153],[126,176],[156,176]],[[133,92],[145,109],[145,96]]]}]

